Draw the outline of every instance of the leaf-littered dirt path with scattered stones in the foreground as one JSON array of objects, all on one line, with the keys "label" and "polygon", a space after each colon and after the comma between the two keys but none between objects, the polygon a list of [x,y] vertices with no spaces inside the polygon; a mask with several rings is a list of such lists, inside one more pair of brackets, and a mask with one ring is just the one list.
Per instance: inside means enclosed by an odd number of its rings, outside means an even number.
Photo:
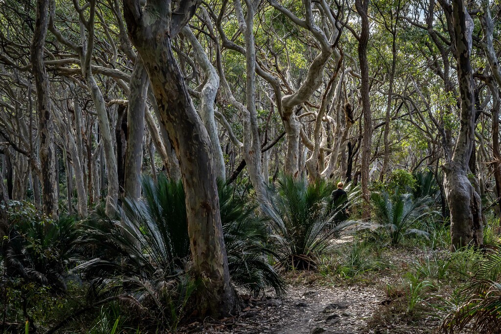
[{"label": "leaf-littered dirt path with scattered stones in the foreground", "polygon": [[[429,307],[450,288],[433,287],[405,296],[402,277],[430,254],[445,252],[420,248],[387,250],[384,265],[355,279],[317,272],[290,272],[286,296],[255,299],[243,296],[240,314],[222,320],[195,321],[179,329],[185,333],[271,333],[271,334],[400,334],[432,333],[444,312]],[[399,288],[399,286],[402,286]],[[412,287],[411,287],[412,294]],[[411,300],[412,299],[412,300]],[[410,310],[409,300],[415,301]]]}]

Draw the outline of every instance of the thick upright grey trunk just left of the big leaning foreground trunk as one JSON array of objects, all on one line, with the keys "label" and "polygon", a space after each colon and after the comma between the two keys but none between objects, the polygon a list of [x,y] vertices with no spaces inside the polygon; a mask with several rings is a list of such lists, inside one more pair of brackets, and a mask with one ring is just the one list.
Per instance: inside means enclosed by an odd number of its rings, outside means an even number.
[{"label": "thick upright grey trunk just left of the big leaning foreground trunk", "polygon": [[[127,111],[127,147],[125,149],[124,193],[131,198],[141,196],[141,162],[143,160],[144,108],[148,93],[148,73],[141,57],[130,79],[129,106]],[[151,162],[153,164],[153,161]]]}]

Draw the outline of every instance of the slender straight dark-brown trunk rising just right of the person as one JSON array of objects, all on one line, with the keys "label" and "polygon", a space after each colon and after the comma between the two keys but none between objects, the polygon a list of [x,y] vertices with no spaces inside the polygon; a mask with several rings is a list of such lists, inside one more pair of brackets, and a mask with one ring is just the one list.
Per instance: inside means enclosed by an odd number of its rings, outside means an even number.
[{"label": "slender straight dark-brown trunk rising just right of the person", "polygon": [[[362,196],[368,203],[370,199],[369,193],[369,165],[371,158],[371,142],[372,142],[372,115],[371,105],[369,100],[369,66],[367,63],[367,44],[369,41],[369,17],[368,8],[369,0],[357,0],[355,2],[357,12],[362,21],[362,30],[358,40],[358,58],[360,61],[360,75],[361,75],[361,90],[362,95],[362,110],[364,116],[364,134],[362,138],[362,164],[361,183],[362,183]],[[370,217],[370,206],[365,205],[363,218]]]}]

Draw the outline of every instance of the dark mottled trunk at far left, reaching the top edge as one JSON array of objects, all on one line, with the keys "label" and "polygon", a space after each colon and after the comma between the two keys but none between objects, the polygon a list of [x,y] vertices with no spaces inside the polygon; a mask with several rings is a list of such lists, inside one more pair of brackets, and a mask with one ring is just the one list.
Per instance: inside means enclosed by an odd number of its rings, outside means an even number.
[{"label": "dark mottled trunk at far left, reaching the top edge", "polygon": [[49,77],[44,65],[44,46],[49,24],[49,0],[37,1],[37,17],[31,44],[33,77],[37,87],[38,132],[40,136],[40,168],[42,181],[42,208],[52,219],[58,217],[56,184],[56,150],[54,148],[54,122],[52,120]]}]

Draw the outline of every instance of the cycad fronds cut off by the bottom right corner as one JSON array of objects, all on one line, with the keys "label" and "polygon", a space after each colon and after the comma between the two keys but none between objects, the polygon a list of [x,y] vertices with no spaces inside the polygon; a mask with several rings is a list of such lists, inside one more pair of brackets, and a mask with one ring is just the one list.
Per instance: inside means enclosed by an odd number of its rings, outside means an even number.
[{"label": "cycad fronds cut off by the bottom right corner", "polygon": [[501,247],[490,250],[462,290],[466,301],[449,313],[440,331],[460,333],[468,328],[480,334],[501,332]]}]

